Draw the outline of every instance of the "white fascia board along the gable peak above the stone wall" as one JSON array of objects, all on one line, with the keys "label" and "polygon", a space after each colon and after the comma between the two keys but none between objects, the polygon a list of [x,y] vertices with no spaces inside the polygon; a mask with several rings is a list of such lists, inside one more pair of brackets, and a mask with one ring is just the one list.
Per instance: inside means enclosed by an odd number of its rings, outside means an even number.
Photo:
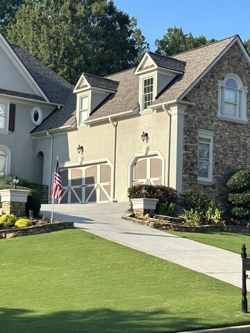
[{"label": "white fascia board along the gable peak above the stone wall", "polygon": [[181,94],[181,96],[178,99],[183,99],[190,92],[190,90],[195,85],[197,85],[197,83],[199,83],[199,81],[201,80],[201,78],[203,78],[203,76],[205,76],[208,73],[208,71],[210,71],[210,69],[224,56],[224,54],[236,42],[238,42],[238,44],[240,46],[240,49],[242,50],[242,53],[243,53],[244,57],[250,63],[249,54],[247,53],[246,49],[244,48],[244,45],[242,44],[242,40],[240,40],[240,37],[238,35],[236,35],[235,38],[228,44],[228,46],[226,46],[226,48],[221,53],[219,53],[219,56],[217,56],[217,58],[215,58],[215,60],[213,60],[213,62],[210,63],[210,65],[203,71],[203,73],[201,73],[201,75],[196,80],[194,80],[194,82],[190,85],[190,87],[188,87],[188,89],[186,89],[185,92],[183,92],[183,94]]}]

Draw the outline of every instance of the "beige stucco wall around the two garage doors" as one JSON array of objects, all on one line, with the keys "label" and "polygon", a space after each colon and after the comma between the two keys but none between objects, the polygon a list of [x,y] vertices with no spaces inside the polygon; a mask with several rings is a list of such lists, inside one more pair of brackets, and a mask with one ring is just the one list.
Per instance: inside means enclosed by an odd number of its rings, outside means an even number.
[{"label": "beige stucco wall around the two garage doors", "polygon": [[[149,141],[142,142],[142,132],[149,134]],[[72,162],[78,164],[78,144],[84,148],[84,163],[108,158],[113,164],[115,128],[111,123],[99,126],[80,126],[77,130],[53,138],[53,169],[56,156],[60,164]],[[50,179],[51,138],[43,137],[36,140],[36,151],[44,153],[44,183]],[[150,112],[138,117],[123,119],[117,123],[117,154],[115,172],[115,200],[127,200],[129,185],[129,167],[133,155],[145,154],[145,148],[159,151],[163,155],[164,185],[168,185],[167,160],[169,155],[169,114],[167,112]],[[78,164],[79,165],[79,164]]]}]

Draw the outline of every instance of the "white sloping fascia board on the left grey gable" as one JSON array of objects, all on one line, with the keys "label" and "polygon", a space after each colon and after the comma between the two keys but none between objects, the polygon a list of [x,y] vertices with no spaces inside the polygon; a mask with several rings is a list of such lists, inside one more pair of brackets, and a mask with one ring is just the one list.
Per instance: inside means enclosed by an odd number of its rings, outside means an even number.
[{"label": "white sloping fascia board on the left grey gable", "polygon": [[4,51],[6,51],[8,53],[10,60],[12,60],[14,65],[17,67],[19,72],[22,74],[24,79],[27,81],[28,85],[31,86],[31,88],[33,89],[33,91],[35,93],[39,93],[40,96],[42,96],[45,99],[45,101],[49,102],[49,99],[46,96],[46,94],[44,94],[44,92],[42,91],[42,89],[40,88],[38,83],[35,81],[35,79],[31,75],[31,73],[24,66],[22,60],[20,60],[20,58],[17,56],[17,54],[12,49],[10,44],[8,44],[7,40],[3,37],[3,35],[1,35],[1,33],[0,33],[0,42],[2,42]]}]

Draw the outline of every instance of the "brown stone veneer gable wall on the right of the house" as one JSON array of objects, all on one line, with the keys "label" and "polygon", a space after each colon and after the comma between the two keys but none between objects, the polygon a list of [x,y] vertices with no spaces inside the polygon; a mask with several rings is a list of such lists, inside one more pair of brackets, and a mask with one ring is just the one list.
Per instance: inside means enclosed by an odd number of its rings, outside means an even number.
[{"label": "brown stone veneer gable wall on the right of the house", "polygon": [[[238,124],[217,118],[217,81],[226,74],[237,74],[244,85],[250,87],[250,66],[238,44],[234,44],[217,64],[208,71],[188,93],[189,101],[197,103],[188,107],[184,118],[183,189],[203,191],[209,198],[225,197],[224,178],[235,169],[250,167],[250,89],[247,94],[249,123]],[[198,130],[213,130],[213,185],[201,185],[197,180]]]}]

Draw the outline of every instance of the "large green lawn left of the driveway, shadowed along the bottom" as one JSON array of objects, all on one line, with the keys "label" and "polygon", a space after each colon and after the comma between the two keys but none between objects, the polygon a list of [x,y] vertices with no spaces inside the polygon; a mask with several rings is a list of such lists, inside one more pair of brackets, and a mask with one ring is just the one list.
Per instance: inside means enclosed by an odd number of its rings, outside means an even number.
[{"label": "large green lawn left of the driveway, shadowed along the bottom", "polygon": [[0,241],[3,333],[153,333],[250,323],[237,287],[81,230]]}]

